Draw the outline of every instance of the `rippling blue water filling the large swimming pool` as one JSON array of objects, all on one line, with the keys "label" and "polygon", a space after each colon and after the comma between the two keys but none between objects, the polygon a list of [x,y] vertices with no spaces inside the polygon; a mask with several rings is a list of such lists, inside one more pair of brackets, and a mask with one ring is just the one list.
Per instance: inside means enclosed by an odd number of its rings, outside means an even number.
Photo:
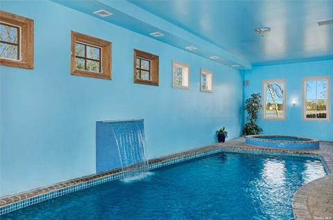
[{"label": "rippling blue water filling the large swimming pool", "polygon": [[315,159],[221,153],[67,194],[1,220],[293,219],[293,194],[324,175]]}]

